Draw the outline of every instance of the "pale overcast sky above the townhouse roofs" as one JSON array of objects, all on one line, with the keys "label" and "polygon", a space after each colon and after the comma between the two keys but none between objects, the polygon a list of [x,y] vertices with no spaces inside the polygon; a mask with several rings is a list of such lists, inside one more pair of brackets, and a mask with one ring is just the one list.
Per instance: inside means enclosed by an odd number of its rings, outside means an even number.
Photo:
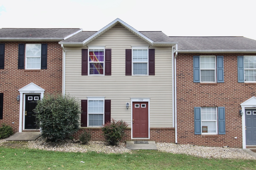
[{"label": "pale overcast sky above the townhouse roofs", "polygon": [[1,28],[99,31],[119,18],[137,31],[168,36],[256,40],[256,0],[1,0]]}]

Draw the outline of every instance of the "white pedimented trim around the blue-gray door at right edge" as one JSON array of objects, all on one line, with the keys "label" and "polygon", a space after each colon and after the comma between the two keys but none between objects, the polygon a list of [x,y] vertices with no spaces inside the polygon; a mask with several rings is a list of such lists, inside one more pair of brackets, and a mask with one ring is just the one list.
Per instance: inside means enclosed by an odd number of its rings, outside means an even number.
[{"label": "white pedimented trim around the blue-gray door at right edge", "polygon": [[[243,102],[241,105],[242,107],[242,112],[244,113],[242,115],[242,141],[243,141],[243,149],[246,149],[246,119],[245,119],[245,109],[254,109],[256,108],[256,97],[251,97],[250,99],[246,100],[245,102]],[[239,112],[237,112],[237,114],[239,114]]]}]

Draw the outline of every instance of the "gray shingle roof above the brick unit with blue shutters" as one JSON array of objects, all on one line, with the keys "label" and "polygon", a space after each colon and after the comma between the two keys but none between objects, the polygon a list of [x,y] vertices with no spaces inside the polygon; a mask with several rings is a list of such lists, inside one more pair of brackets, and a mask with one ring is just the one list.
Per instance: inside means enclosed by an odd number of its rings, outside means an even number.
[{"label": "gray shingle roof above the brick unit with blue shutters", "polygon": [[246,37],[170,37],[178,50],[256,50],[256,40]]}]

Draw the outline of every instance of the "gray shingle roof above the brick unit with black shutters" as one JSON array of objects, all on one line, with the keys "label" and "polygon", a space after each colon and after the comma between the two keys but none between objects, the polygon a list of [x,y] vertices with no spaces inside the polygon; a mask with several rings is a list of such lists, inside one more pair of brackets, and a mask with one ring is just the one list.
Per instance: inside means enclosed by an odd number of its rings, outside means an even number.
[{"label": "gray shingle roof above the brick unit with black shutters", "polygon": [[81,29],[78,28],[2,28],[0,38],[62,38],[67,37]]}]

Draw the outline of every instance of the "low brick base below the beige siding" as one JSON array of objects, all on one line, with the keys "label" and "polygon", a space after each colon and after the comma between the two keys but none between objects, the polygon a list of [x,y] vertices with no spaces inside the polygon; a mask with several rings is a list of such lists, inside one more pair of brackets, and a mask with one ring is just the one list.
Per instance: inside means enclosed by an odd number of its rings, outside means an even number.
[{"label": "low brick base below the beige siding", "polygon": [[[75,139],[79,139],[83,130],[86,128],[81,128],[76,134],[74,134]],[[105,141],[102,134],[101,128],[88,128],[92,132],[93,141]],[[175,142],[175,129],[174,128],[150,128],[150,139],[131,139],[131,128],[126,129],[126,136],[122,141],[156,141],[156,142]]]}]

